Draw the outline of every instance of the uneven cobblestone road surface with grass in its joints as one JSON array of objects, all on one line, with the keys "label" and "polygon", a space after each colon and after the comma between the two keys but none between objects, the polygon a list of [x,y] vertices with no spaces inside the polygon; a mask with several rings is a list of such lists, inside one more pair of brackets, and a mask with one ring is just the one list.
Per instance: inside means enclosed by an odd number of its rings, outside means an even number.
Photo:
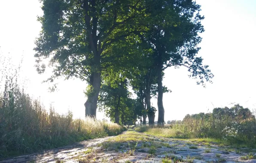
[{"label": "uneven cobblestone road surface with grass in its joints", "polygon": [[[217,145],[138,134],[141,137],[147,136],[150,141],[116,143],[108,139],[115,139],[117,136],[110,136],[43,153],[15,157],[0,163],[256,163],[256,159],[253,159],[256,154],[237,154],[235,151],[224,151]],[[245,160],[246,156],[250,160]]]}]

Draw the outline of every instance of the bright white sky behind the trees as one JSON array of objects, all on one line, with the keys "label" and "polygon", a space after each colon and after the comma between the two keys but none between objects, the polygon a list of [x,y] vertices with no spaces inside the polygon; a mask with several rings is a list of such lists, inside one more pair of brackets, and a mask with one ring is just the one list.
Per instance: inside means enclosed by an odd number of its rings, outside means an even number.
[{"label": "bright white sky behind the trees", "polygon": [[[255,108],[256,103],[256,0],[197,0],[201,4],[202,24],[199,55],[214,73],[213,84],[198,86],[188,78],[185,68],[165,71],[164,85],[172,93],[164,94],[165,121],[182,120],[186,114],[212,111],[213,107],[240,103]],[[41,25],[37,0],[0,0],[0,51],[18,63],[24,56],[22,76],[27,79],[27,93],[40,98],[45,106],[54,102],[55,110],[66,113],[70,109],[75,118],[85,115],[86,83],[78,79],[60,80],[58,90],[48,93],[48,85],[41,84],[49,74],[38,75],[34,68],[33,48]],[[157,108],[157,100],[152,100]],[[157,121],[157,113],[155,116]],[[104,118],[104,113],[97,113]]]}]

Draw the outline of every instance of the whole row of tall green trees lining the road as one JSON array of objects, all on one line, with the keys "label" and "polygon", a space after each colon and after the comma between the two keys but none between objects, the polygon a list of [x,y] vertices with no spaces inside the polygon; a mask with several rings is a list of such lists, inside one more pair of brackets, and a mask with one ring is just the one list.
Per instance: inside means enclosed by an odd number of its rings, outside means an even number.
[{"label": "whole row of tall green trees lining the road", "polygon": [[[41,0],[43,16],[36,39],[37,71],[50,58],[48,81],[65,76],[86,81],[85,115],[96,117],[97,106],[116,123],[146,117],[164,121],[164,70],[185,66],[197,84],[213,74],[197,56],[204,32],[200,5],[192,0]],[[175,78],[175,77],[174,77]],[[131,98],[131,89],[137,99]],[[121,117],[121,119],[120,119]]]}]

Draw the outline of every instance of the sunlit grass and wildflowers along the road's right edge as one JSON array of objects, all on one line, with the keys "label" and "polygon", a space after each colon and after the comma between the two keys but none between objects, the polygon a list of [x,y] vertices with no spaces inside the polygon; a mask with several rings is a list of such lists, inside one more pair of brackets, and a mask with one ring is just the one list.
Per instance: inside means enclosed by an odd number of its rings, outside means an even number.
[{"label": "sunlit grass and wildflowers along the road's right edge", "polygon": [[215,108],[212,113],[186,115],[183,121],[165,126],[138,126],[135,130],[167,138],[190,139],[205,145],[232,145],[237,148],[256,147],[256,119],[248,108]]}]

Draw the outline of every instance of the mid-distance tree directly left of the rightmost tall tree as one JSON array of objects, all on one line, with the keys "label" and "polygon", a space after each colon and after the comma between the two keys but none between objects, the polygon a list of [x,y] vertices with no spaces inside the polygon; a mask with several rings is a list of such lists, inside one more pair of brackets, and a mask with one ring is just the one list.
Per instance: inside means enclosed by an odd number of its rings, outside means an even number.
[{"label": "mid-distance tree directly left of the rightmost tall tree", "polygon": [[[144,105],[143,125],[146,124],[146,115],[149,118],[149,125],[154,125],[156,109],[151,106],[151,98],[158,96],[157,72],[152,58],[152,49],[148,46],[143,46],[143,49],[139,62],[143,64],[136,65],[137,69],[131,70],[128,76],[134,92]],[[136,61],[134,60],[134,62]],[[163,86],[163,90],[169,92],[165,86]]]}]

